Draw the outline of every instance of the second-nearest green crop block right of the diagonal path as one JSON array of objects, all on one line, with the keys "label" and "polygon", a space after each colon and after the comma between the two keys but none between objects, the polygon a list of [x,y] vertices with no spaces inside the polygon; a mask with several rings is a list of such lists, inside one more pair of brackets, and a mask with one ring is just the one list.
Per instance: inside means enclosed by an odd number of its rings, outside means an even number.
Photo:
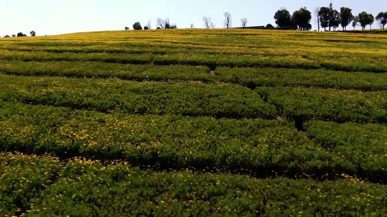
[{"label": "second-nearest green crop block right of the diagonal path", "polygon": [[387,123],[387,92],[258,87],[261,98],[289,119]]}]

